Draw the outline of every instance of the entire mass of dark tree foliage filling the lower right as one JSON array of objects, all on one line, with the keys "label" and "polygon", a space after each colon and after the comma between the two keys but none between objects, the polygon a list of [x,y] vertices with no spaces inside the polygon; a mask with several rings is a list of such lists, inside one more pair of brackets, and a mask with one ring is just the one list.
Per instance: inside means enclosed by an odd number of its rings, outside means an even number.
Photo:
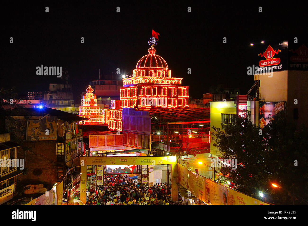
[{"label": "entire mass of dark tree foliage filling the lower right", "polygon": [[[262,191],[267,201],[275,204],[292,204],[296,199],[295,203],[305,203],[307,128],[296,128],[281,113],[260,134],[250,115],[248,112],[247,118],[235,116],[231,123],[221,123],[224,130],[213,127],[214,146],[222,157],[237,159],[236,169],[220,168],[224,176],[219,182],[231,181],[236,189],[255,198],[260,198],[258,192]],[[294,160],[298,160],[298,166],[294,166]],[[274,188],[273,182],[282,189]]]}]

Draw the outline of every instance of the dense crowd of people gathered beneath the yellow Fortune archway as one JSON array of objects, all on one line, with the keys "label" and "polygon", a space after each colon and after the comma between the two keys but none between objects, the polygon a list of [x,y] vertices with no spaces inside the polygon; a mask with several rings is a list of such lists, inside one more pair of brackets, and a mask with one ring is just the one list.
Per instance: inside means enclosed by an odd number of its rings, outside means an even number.
[{"label": "dense crowd of people gathered beneath the yellow Fortune archway", "polygon": [[180,205],[171,200],[171,185],[153,186],[136,184],[128,176],[104,175],[104,185],[95,192],[87,192],[86,205]]}]

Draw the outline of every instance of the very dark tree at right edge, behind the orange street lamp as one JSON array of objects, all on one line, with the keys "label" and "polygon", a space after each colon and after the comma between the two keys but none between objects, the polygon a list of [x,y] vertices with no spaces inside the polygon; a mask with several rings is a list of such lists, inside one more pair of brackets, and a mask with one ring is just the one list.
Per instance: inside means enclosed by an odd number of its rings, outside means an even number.
[{"label": "very dark tree at right edge, behind the orange street lamp", "polygon": [[[263,130],[269,146],[266,166],[270,172],[269,191],[281,204],[308,204],[307,127],[288,122],[284,112],[270,117]],[[274,188],[272,183],[280,188]]]}]

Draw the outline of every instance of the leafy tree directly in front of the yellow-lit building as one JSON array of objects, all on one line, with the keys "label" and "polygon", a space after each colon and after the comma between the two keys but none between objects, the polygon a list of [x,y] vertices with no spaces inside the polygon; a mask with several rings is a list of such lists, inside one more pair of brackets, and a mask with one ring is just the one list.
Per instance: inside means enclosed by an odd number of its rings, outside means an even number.
[{"label": "leafy tree directly in front of the yellow-lit building", "polygon": [[258,191],[268,182],[265,140],[259,135],[258,127],[247,118],[235,116],[230,123],[221,123],[223,130],[213,126],[214,146],[225,159],[236,159],[237,167],[222,167],[224,177],[219,182],[231,181],[237,190],[257,197]]}]

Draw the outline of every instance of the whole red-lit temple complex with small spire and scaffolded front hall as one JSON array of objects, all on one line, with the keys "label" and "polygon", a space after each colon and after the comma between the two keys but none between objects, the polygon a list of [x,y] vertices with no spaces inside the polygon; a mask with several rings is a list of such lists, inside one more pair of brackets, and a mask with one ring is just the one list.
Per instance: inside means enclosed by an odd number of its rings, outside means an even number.
[{"label": "whole red-lit temple complex with small spire and scaffolded front hall", "polygon": [[142,150],[149,154],[152,145],[160,154],[179,148],[187,153],[209,153],[209,108],[188,107],[189,87],[182,85],[182,78],[171,76],[153,45],[137,62],[132,76],[122,80],[120,99],[111,100],[111,108],[101,114],[93,89],[87,89],[79,115],[89,118],[85,125],[105,123],[109,130],[89,135],[91,151]]}]

